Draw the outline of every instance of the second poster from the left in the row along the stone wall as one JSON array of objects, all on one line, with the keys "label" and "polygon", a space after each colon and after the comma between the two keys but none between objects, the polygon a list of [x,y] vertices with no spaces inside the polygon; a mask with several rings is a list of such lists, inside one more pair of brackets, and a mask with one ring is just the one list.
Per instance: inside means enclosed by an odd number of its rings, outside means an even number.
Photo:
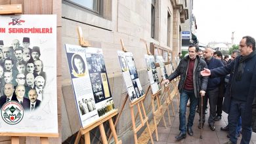
[{"label": "second poster from the left in the row along the stone wall", "polygon": [[133,53],[117,51],[118,59],[123,73],[123,79],[131,102],[144,95],[139,75],[133,59]]}]

